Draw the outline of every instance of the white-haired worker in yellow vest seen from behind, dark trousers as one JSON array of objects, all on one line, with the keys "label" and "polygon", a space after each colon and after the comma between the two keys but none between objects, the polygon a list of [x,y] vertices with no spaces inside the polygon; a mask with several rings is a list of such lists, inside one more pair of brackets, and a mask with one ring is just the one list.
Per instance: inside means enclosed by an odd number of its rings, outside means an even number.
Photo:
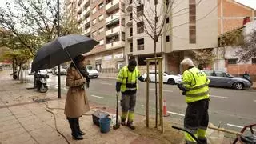
[{"label": "white-haired worker in yellow vest seen from behind, dark trousers", "polygon": [[[209,83],[210,80],[206,74],[194,66],[190,58],[185,58],[181,62],[182,83],[178,88],[186,96],[186,114],[184,118],[184,127],[190,133],[194,134],[200,142],[207,143],[206,130],[209,122]],[[196,143],[190,134],[185,133],[186,143]]]}]

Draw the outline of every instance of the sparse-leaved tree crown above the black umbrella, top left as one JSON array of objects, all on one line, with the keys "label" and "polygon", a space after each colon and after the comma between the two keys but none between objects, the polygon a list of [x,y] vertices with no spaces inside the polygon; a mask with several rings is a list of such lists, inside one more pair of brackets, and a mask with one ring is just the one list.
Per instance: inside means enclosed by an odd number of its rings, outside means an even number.
[{"label": "sparse-leaved tree crown above the black umbrella, top left", "polygon": [[[61,34],[79,33],[78,24],[63,12],[61,9]],[[42,44],[57,37],[57,1],[6,2],[6,8],[0,7],[0,26],[10,30],[22,47],[34,55]]]}]

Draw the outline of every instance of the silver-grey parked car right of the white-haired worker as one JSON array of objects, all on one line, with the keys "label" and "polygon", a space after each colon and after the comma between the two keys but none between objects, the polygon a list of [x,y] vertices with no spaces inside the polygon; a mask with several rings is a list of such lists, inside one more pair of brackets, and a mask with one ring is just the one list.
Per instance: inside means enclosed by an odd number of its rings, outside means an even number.
[{"label": "silver-grey parked car right of the white-haired worker", "polygon": [[237,90],[250,88],[251,84],[244,78],[234,77],[220,70],[203,70],[210,79],[209,86],[230,87]]}]

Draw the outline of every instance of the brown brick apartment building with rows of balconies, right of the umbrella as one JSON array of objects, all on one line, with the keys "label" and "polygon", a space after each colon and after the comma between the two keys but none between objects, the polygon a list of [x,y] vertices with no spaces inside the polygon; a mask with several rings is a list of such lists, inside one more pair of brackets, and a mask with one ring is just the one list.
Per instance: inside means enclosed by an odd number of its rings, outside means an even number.
[{"label": "brown brick apartment building with rows of balconies, right of the umbrella", "polygon": [[82,34],[99,44],[86,60],[102,73],[114,73],[125,65],[125,4],[120,0],[78,0],[77,18]]}]

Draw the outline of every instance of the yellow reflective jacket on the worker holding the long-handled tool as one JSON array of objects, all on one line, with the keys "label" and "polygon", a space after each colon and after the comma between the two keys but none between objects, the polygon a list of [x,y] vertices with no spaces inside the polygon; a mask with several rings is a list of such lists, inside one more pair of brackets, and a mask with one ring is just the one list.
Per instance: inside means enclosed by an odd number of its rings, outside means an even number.
[{"label": "yellow reflective jacket on the worker holding the long-handled tool", "polygon": [[138,68],[136,67],[133,72],[128,70],[128,66],[122,67],[119,71],[117,81],[122,83],[121,92],[138,90],[137,78],[141,76]]}]

